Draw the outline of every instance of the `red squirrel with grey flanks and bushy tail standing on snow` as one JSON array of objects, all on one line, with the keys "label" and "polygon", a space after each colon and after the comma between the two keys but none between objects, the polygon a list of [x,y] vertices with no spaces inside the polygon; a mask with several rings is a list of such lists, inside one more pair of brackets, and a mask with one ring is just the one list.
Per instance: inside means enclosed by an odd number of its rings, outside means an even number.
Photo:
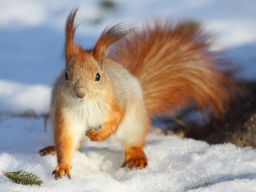
[{"label": "red squirrel with grey flanks and bushy tail standing on snow", "polygon": [[199,25],[156,20],[135,30],[116,24],[104,29],[93,49],[83,49],[74,42],[76,13],[67,16],[65,70],[51,97],[55,146],[40,150],[41,156],[57,154],[55,179],[71,178],[71,158],[86,136],[117,139],[125,149],[122,167],[145,168],[150,117],[190,102],[216,117],[224,114],[236,84],[231,71],[220,70],[224,62],[214,59]]}]

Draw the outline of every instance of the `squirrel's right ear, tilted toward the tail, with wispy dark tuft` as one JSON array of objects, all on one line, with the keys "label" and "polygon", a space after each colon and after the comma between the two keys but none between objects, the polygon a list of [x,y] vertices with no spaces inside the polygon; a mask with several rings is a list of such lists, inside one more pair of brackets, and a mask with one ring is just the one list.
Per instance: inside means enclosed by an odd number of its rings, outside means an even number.
[{"label": "squirrel's right ear, tilted toward the tail, with wispy dark tuft", "polygon": [[104,29],[93,49],[94,58],[98,61],[100,68],[102,68],[102,63],[108,54],[109,46],[126,36],[130,31],[123,24],[108,26]]}]

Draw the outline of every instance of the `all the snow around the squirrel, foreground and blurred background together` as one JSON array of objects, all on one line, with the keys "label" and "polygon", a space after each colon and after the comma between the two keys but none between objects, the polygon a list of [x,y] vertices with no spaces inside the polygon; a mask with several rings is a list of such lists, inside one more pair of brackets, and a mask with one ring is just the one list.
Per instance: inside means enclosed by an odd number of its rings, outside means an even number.
[{"label": "all the snow around the squirrel, foreground and blurred background together", "polygon": [[145,170],[120,169],[124,153],[117,143],[88,141],[74,154],[73,179],[53,179],[56,157],[38,154],[53,143],[51,128],[44,131],[42,118],[8,114],[47,113],[51,83],[64,65],[63,26],[72,7],[80,7],[76,38],[89,47],[116,22],[139,24],[159,15],[199,20],[215,34],[214,49],[226,49],[241,65],[239,76],[256,79],[255,1],[114,2],[116,8],[105,10],[100,0],[0,0],[0,170],[24,169],[44,181],[41,187],[24,187],[1,175],[0,191],[256,191],[256,150],[154,133],[146,143]]}]

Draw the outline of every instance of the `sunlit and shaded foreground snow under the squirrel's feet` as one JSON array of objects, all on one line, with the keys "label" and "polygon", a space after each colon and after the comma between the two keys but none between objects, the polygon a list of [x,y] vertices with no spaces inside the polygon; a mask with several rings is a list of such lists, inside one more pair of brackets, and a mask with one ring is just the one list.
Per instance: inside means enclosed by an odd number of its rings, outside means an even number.
[{"label": "sunlit and shaded foreground snow under the squirrel's feet", "polygon": [[32,171],[44,184],[23,187],[1,175],[0,191],[255,191],[255,150],[154,133],[147,139],[150,164],[145,170],[120,168],[124,152],[117,143],[87,141],[73,156],[72,179],[55,181],[51,172],[56,156],[38,154],[53,144],[50,129],[45,132],[42,123],[19,118],[1,123],[1,169]]}]

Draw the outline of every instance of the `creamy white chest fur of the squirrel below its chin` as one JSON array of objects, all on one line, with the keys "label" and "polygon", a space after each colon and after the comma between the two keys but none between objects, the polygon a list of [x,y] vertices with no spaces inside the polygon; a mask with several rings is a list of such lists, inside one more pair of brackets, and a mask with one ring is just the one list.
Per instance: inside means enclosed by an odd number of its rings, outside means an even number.
[{"label": "creamy white chest fur of the squirrel below its chin", "polygon": [[97,102],[71,100],[65,108],[65,118],[69,121],[69,133],[75,143],[82,141],[89,129],[98,129],[104,123],[106,111]]}]

